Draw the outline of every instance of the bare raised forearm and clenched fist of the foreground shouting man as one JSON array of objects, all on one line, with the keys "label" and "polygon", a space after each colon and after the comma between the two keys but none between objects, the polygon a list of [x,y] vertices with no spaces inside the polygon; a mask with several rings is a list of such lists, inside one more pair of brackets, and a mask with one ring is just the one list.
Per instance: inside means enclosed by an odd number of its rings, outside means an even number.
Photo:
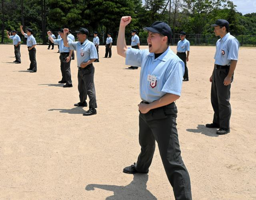
[{"label": "bare raised forearm and clenched fist of the foreground shouting man", "polygon": [[119,26],[119,32],[118,32],[118,38],[116,42],[116,49],[118,55],[121,55],[122,57],[126,57],[126,42],[125,42],[125,27],[130,24],[132,18],[130,16],[124,16],[120,20],[120,26]]}]

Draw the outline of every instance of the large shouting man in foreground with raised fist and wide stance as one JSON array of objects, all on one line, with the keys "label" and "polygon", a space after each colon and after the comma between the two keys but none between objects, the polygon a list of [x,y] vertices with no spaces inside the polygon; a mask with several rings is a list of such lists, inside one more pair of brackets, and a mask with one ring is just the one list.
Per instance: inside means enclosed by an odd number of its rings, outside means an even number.
[{"label": "large shouting man in foreground with raised fist and wide stance", "polygon": [[136,163],[124,168],[127,174],[148,173],[155,142],[175,199],[191,200],[188,170],[180,155],[176,128],[177,107],[182,89],[184,63],[170,50],[172,30],[164,22],[154,22],[148,32],[148,50],[127,48],[125,27],[130,16],[122,17],[117,39],[117,52],[126,58],[126,65],[141,67],[139,109],[139,143],[141,152]]}]

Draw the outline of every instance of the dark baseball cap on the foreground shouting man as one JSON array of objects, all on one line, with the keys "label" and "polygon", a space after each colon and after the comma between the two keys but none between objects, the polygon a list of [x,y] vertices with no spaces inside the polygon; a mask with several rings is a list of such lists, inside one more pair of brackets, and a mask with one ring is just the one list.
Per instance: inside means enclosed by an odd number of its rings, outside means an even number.
[{"label": "dark baseball cap on the foreground shouting man", "polygon": [[144,31],[150,31],[152,33],[159,33],[164,36],[167,36],[169,40],[172,38],[172,29],[168,24],[161,22],[161,21],[156,21],[153,24],[151,24],[150,27],[145,27],[143,28]]}]

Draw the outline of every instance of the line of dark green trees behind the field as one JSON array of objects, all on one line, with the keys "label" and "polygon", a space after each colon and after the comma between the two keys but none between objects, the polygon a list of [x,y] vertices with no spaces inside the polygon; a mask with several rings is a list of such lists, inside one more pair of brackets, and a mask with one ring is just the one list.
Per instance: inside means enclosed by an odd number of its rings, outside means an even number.
[{"label": "line of dark green trees behind the field", "polygon": [[233,35],[256,35],[256,13],[245,14],[236,10],[231,0],[1,0],[0,23],[3,43],[6,30],[19,26],[32,28],[42,43],[48,42],[47,30],[86,27],[90,33],[111,32],[116,37],[122,16],[131,16],[127,28],[136,29],[141,38],[147,33],[143,27],[154,21],[170,25],[173,34],[181,30],[189,34],[213,35],[210,24],[217,19],[230,22]]}]

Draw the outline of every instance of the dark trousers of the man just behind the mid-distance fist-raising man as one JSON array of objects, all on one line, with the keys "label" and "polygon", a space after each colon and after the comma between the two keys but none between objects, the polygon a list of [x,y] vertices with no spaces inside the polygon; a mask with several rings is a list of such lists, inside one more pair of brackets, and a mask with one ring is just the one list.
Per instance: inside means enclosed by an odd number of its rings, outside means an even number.
[{"label": "dark trousers of the man just behind the mid-distance fist-raising man", "polygon": [[70,63],[71,63],[71,59],[70,61],[67,63],[66,62],[66,58],[68,57],[68,54],[65,55],[60,55],[60,71],[62,74],[62,81],[66,81],[68,85],[72,84],[72,80],[71,80],[71,71],[70,71]]}]

